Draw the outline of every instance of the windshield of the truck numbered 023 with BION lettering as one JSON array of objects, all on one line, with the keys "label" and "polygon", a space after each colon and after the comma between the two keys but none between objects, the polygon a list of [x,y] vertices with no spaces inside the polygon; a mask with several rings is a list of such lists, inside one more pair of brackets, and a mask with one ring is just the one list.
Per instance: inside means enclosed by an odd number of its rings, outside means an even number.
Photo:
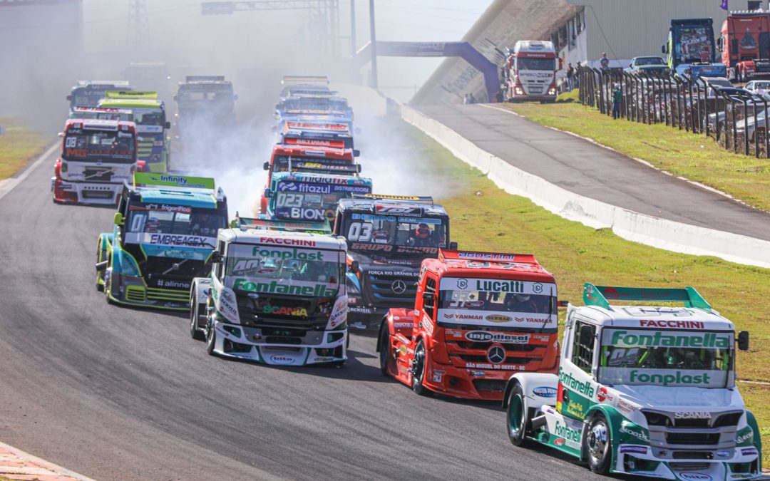
[{"label": "windshield of the truck numbered 023 with BION lettering", "polygon": [[[323,180],[323,178],[319,178]],[[273,203],[273,214],[277,219],[320,221],[334,219],[337,202],[352,194],[370,194],[371,185],[359,179],[351,179],[360,185],[316,182],[277,182]]]}]

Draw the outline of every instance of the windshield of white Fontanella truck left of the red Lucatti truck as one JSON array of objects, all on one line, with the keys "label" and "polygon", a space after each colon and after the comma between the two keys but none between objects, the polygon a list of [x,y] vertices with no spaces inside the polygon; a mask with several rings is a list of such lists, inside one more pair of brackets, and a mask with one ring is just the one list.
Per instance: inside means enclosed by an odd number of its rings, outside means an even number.
[{"label": "windshield of white Fontanella truck left of the red Lucatti truck", "polygon": [[328,249],[230,244],[225,283],[236,291],[333,297],[344,260],[343,252]]}]

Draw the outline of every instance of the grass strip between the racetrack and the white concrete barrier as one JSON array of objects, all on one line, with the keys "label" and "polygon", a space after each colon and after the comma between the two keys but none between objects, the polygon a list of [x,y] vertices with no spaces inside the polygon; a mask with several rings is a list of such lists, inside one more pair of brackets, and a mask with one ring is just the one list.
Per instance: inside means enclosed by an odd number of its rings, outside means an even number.
[{"label": "grass strip between the racetrack and the white concrete barrier", "polygon": [[[621,239],[609,229],[591,229],[547,212],[530,200],[498,189],[480,171],[403,122],[388,138],[406,137],[412,154],[430,159],[422,173],[451,192],[438,199],[450,213],[453,240],[462,249],[534,253],[557,278],[560,299],[582,305],[584,282],[609,286],[694,286],[736,329],[751,332],[751,349],[738,352],[738,377],[770,382],[768,299],[770,269],[741,266],[714,257],[687,256]],[[562,316],[564,312],[561,312]],[[749,409],[770,442],[770,386],[742,383]],[[770,463],[770,449],[765,451]]]}]

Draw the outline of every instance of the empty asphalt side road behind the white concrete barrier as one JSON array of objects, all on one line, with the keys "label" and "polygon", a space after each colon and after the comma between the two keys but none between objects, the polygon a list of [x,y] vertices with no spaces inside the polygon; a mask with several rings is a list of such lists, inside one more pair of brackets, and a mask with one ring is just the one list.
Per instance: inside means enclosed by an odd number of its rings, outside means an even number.
[{"label": "empty asphalt side road behind the white concrete barrier", "polygon": [[481,149],[563,189],[662,219],[770,240],[770,215],[510,111],[439,105],[420,111]]}]

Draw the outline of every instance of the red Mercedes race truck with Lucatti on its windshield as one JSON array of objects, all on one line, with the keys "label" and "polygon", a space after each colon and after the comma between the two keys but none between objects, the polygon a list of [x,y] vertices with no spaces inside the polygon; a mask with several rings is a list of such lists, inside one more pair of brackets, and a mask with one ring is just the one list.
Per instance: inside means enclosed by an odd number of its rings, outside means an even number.
[{"label": "red Mercedes race truck with Lucatti on its windshield", "polygon": [[554,276],[530,254],[441,250],[413,308],[390,309],[380,369],[414,392],[501,400],[511,372],[558,367]]}]

